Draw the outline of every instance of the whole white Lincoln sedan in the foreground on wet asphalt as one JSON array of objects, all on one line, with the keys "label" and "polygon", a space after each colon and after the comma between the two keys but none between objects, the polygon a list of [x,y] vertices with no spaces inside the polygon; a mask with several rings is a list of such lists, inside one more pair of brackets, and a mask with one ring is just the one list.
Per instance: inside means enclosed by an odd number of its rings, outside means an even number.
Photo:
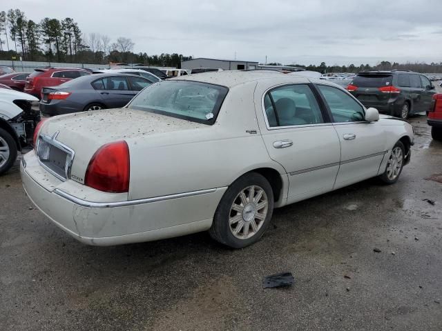
[{"label": "whole white Lincoln sedan in the foreground on wet asphalt", "polygon": [[207,72],[148,86],[124,108],[52,117],[21,162],[23,186],[90,245],[209,230],[258,241],[273,208],[379,177],[410,160],[413,130],[325,80]]}]

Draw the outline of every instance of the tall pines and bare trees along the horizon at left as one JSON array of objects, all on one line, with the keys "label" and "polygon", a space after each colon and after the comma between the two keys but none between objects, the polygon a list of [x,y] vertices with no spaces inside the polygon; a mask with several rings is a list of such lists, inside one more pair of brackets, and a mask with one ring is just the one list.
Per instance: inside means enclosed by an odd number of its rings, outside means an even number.
[{"label": "tall pines and bare trees along the horizon at left", "polygon": [[[12,41],[12,43],[10,43]],[[106,34],[84,34],[72,18],[45,17],[40,22],[27,19],[19,9],[0,11],[0,60],[108,64],[143,63],[148,66],[180,67],[191,59],[182,54],[149,56],[135,54],[130,38],[112,41]]]}]

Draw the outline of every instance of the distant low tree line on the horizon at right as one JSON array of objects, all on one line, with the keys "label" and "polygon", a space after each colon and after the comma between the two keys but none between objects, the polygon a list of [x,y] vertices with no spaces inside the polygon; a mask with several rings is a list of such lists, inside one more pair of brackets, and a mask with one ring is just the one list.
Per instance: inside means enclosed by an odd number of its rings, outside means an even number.
[{"label": "distant low tree line on the horizon at right", "polygon": [[[267,66],[281,66],[281,63],[266,63]],[[369,64],[361,64],[360,66],[355,66],[354,64],[350,64],[349,66],[327,66],[325,62],[321,62],[319,66],[311,64],[309,66],[302,66],[300,64],[289,64],[287,66],[304,68],[305,70],[317,71],[322,74],[326,72],[361,72],[367,70],[412,70],[414,72],[422,72],[422,73],[442,73],[442,62],[439,63],[397,63],[390,61],[381,61],[376,64],[376,66],[370,66]]]}]

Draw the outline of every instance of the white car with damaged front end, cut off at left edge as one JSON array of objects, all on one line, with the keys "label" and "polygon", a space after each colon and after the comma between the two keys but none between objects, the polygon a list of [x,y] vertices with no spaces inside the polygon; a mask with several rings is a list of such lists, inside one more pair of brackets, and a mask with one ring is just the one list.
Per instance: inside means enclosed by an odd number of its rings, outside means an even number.
[{"label": "white car with damaged front end, cut off at left edge", "polygon": [[32,148],[35,127],[40,112],[32,110],[30,94],[0,89],[0,174],[8,171],[17,158],[17,152]]}]

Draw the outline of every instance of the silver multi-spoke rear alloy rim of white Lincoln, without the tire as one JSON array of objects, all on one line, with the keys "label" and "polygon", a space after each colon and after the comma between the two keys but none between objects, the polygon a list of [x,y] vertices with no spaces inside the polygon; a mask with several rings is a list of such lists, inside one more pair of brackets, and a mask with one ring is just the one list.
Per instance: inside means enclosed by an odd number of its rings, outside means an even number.
[{"label": "silver multi-spoke rear alloy rim of white Lincoln, without the tire", "polygon": [[233,200],[229,229],[238,239],[253,237],[265,223],[269,210],[267,194],[258,185],[244,188]]}]

